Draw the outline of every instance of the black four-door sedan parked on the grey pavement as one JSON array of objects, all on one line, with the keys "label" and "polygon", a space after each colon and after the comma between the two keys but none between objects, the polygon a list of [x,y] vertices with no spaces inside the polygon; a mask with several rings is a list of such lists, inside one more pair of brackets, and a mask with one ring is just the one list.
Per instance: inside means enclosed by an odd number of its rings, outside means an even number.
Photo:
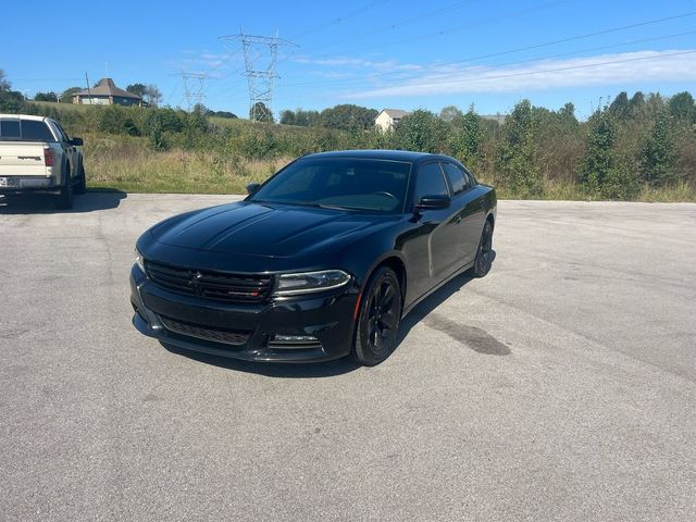
[{"label": "black four-door sedan parked on the grey pavement", "polygon": [[490,270],[496,192],[451,158],[324,152],[248,188],[140,236],[130,301],[141,333],[253,361],[373,365],[419,301]]}]

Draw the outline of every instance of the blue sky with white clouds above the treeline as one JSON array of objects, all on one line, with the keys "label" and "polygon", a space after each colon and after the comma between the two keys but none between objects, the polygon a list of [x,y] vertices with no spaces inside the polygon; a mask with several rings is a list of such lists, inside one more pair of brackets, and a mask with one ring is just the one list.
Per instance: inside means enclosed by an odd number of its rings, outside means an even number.
[{"label": "blue sky with white clouds above the treeline", "polygon": [[[0,69],[29,98],[109,76],[154,84],[184,109],[187,84],[191,101],[245,117],[240,33],[279,38],[276,114],[338,103],[497,114],[529,98],[586,117],[622,90],[696,94],[696,0],[121,0],[40,14],[50,5],[0,10]],[[270,54],[251,42],[251,69],[268,70]]]}]

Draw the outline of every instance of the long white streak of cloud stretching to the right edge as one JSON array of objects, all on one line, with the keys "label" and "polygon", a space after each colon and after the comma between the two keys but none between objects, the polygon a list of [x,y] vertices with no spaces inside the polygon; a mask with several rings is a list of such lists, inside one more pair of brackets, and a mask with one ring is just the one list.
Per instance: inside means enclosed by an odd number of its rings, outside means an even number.
[{"label": "long white streak of cloud stretching to the right edge", "polygon": [[432,66],[418,77],[382,78],[382,85],[346,92],[344,98],[425,96],[463,92],[525,92],[636,82],[696,80],[696,49],[637,51],[539,60],[523,65]]}]

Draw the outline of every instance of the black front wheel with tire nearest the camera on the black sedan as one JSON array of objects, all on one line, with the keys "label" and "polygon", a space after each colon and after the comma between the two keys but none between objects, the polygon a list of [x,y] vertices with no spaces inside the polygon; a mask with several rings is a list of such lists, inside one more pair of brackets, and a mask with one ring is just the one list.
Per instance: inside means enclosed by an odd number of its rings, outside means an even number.
[{"label": "black front wheel with tire nearest the camera on the black sedan", "polygon": [[362,293],[350,358],[374,366],[396,348],[401,322],[401,287],[391,269],[381,266]]}]

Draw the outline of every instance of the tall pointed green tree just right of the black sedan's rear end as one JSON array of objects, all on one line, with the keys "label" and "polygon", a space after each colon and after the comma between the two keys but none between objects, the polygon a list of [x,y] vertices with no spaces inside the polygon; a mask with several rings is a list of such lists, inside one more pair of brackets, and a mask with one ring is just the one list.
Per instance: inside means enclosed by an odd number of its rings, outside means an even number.
[{"label": "tall pointed green tree just right of the black sedan's rear end", "polygon": [[522,100],[504,124],[504,140],[498,149],[498,170],[502,182],[521,198],[544,191],[539,176],[539,151],[534,108]]}]

